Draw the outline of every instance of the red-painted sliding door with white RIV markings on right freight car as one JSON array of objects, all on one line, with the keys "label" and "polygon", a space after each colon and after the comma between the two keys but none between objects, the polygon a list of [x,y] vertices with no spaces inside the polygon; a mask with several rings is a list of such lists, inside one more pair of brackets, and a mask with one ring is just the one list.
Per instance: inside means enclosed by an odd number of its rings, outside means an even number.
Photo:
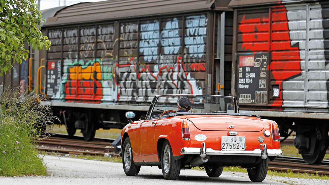
[{"label": "red-painted sliding door with white RIV markings on right freight car", "polygon": [[236,96],[241,105],[305,105],[306,10],[302,4],[238,11]]}]

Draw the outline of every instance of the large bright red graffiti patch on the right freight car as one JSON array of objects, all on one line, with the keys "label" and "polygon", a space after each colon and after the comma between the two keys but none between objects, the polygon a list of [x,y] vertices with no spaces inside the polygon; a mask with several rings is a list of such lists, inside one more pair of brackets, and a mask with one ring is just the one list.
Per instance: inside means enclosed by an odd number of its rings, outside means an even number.
[{"label": "large bright red graffiti patch on the right freight car", "polygon": [[238,44],[238,50],[253,53],[270,50],[271,60],[268,69],[271,83],[280,84],[280,96],[271,106],[282,106],[282,82],[301,74],[300,49],[298,45],[291,46],[287,10],[284,6],[272,7],[271,20],[268,16],[251,19],[246,18],[247,16],[243,15],[240,22],[239,31],[242,33],[243,43]]}]

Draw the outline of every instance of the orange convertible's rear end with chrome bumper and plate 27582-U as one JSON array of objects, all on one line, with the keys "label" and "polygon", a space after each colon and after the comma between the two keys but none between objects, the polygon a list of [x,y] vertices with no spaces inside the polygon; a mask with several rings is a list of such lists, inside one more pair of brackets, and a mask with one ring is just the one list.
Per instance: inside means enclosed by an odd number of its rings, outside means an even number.
[{"label": "orange convertible's rear end with chrome bumper and plate 27582-U", "polygon": [[190,147],[182,148],[181,154],[191,158],[186,160],[191,167],[212,164],[247,168],[259,159],[273,160],[282,155],[280,135],[276,123],[268,121],[230,115],[186,117],[182,123],[188,125],[190,133],[182,137],[190,136]]}]

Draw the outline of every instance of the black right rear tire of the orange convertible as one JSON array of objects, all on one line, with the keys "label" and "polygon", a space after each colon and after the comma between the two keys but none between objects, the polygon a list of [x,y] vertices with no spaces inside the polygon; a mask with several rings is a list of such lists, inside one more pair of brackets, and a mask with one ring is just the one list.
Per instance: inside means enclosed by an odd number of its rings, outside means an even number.
[{"label": "black right rear tire of the orange convertible", "polygon": [[267,174],[268,157],[261,159],[261,162],[256,164],[253,168],[248,168],[249,179],[253,182],[263,182]]}]

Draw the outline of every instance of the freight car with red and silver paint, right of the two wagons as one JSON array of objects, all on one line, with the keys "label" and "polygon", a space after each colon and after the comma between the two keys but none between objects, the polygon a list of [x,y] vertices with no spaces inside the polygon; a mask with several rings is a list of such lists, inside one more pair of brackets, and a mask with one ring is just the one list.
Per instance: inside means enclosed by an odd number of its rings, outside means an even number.
[{"label": "freight car with red and silver paint, right of the two wagons", "polygon": [[307,163],[328,148],[329,3],[232,0],[232,95],[240,108],[296,131]]}]

